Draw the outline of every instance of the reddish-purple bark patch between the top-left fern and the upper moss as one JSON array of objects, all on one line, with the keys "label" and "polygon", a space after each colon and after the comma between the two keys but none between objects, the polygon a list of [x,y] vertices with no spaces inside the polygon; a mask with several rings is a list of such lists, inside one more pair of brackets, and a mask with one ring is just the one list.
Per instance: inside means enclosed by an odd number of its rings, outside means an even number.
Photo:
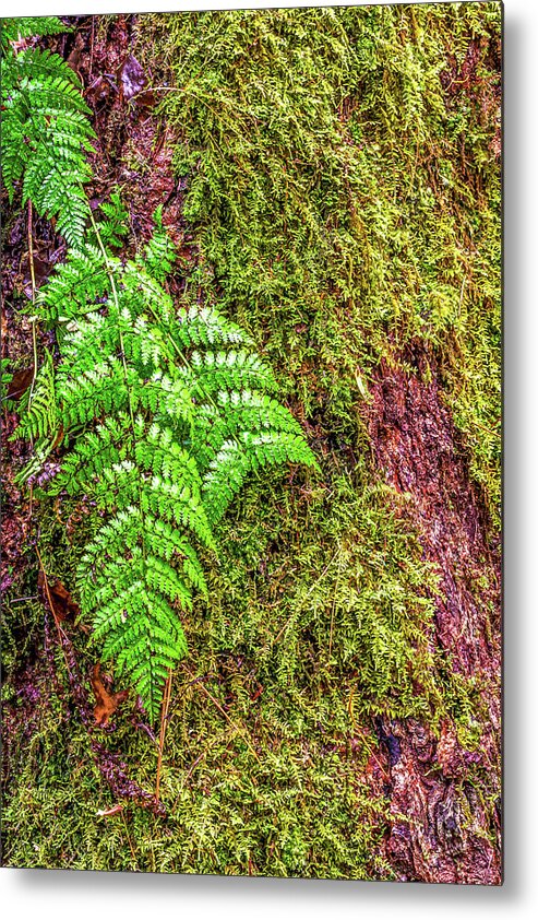
[{"label": "reddish-purple bark patch between the top-left fern and the upper moss", "polygon": [[174,135],[155,114],[157,95],[147,90],[154,83],[152,73],[132,55],[136,16],[113,16],[106,31],[100,16],[71,22],[73,33],[49,40],[81,78],[93,110],[96,138],[89,162],[94,177],[86,187],[92,207],[119,187],[138,245],[152,235],[154,212],[162,207],[180,257],[189,259],[182,217],[184,181],[172,168]]}]

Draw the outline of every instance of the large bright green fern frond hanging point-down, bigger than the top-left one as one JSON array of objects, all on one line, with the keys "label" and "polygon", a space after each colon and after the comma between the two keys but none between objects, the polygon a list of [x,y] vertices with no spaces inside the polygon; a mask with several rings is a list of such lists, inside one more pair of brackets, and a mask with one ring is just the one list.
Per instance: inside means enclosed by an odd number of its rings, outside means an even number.
[{"label": "large bright green fern frond hanging point-down, bigger than the top-left one", "polygon": [[95,226],[38,297],[40,315],[63,328],[48,398],[71,445],[49,492],[96,509],[77,571],[82,609],[104,658],[156,718],[168,671],[187,653],[180,612],[207,592],[199,551],[216,550],[214,524],[262,467],[316,463],[249,337],[215,309],[175,308],[162,225],[124,264]]}]

